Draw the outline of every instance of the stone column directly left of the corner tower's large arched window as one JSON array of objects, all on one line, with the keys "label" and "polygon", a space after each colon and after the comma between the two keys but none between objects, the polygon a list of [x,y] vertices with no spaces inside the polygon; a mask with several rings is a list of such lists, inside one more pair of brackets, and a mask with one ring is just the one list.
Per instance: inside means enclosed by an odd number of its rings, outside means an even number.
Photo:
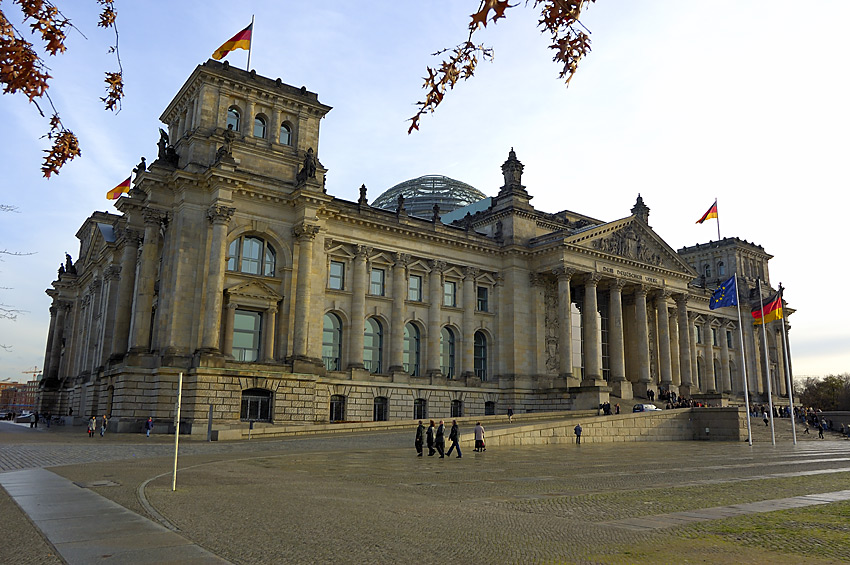
[{"label": "stone column directly left of the corner tower's large arched window", "polygon": [[209,273],[206,303],[204,304],[204,334],[201,348],[208,353],[219,352],[221,335],[221,306],[224,302],[224,272],[227,267],[227,225],[235,208],[214,204],[207,210],[212,224]]}]

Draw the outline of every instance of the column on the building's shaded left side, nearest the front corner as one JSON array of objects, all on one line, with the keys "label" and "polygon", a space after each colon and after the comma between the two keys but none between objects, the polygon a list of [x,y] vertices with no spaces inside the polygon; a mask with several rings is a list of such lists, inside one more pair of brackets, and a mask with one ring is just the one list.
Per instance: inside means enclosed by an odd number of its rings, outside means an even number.
[{"label": "column on the building's shaded left side, nearest the front corner", "polygon": [[145,242],[142,246],[139,280],[136,284],[136,300],[133,307],[133,333],[130,336],[132,353],[145,353],[151,345],[151,314],[159,259],[159,230],[165,219],[165,214],[159,210],[148,208],[143,211],[143,214]]}]

